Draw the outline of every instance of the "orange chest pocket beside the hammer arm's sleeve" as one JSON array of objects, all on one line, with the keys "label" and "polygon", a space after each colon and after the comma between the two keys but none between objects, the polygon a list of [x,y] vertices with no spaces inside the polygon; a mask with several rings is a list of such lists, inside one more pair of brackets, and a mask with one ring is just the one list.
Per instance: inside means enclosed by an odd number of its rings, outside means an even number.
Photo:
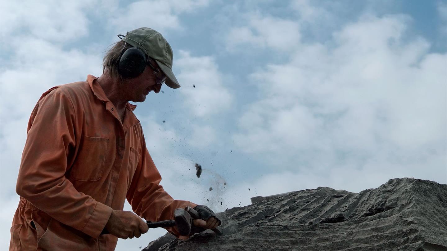
[{"label": "orange chest pocket beside the hammer arm's sleeve", "polygon": [[108,138],[84,136],[70,173],[72,178],[81,181],[101,179],[108,150]]}]

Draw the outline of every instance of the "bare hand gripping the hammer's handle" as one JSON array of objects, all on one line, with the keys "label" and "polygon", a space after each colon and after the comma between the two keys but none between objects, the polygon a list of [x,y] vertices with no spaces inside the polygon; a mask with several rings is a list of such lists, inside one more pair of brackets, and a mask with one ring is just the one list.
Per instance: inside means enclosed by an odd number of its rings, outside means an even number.
[{"label": "bare hand gripping the hammer's handle", "polygon": [[113,210],[105,229],[118,238],[138,238],[148,232],[148,224],[129,211]]}]

